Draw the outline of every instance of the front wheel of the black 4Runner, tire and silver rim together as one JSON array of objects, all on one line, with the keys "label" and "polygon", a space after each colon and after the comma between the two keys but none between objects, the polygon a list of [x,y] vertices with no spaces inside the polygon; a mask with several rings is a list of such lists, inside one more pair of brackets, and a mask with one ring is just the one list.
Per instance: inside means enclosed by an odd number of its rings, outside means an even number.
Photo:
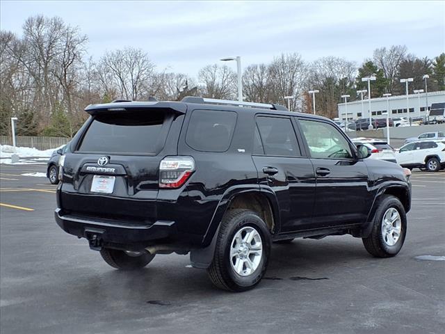
[{"label": "front wheel of the black 4Runner, tire and silver rim together", "polygon": [[405,208],[398,198],[385,196],[380,201],[369,237],[363,238],[366,250],[375,257],[395,256],[406,236]]}]

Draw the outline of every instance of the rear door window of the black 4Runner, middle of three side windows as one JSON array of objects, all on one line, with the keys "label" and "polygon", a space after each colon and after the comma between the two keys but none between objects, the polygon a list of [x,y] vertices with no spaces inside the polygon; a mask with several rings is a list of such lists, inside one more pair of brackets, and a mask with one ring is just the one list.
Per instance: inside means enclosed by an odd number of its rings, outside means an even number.
[{"label": "rear door window of the black 4Runner, middle of three side windows", "polygon": [[289,118],[257,118],[264,154],[279,157],[299,157],[300,148]]}]

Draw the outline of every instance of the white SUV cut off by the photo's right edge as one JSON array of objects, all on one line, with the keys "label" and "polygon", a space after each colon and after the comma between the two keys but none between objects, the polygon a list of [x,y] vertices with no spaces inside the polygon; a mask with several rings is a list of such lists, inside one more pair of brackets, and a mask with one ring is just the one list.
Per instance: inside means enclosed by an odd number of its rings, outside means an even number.
[{"label": "white SUV cut off by the photo's right edge", "polygon": [[399,165],[406,168],[426,168],[437,172],[445,168],[445,141],[416,141],[403,145],[396,153]]}]

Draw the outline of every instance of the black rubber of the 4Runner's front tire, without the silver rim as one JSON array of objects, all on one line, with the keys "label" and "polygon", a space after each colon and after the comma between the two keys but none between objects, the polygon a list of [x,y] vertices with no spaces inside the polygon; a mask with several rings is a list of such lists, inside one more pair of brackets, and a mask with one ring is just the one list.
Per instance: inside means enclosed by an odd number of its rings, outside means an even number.
[{"label": "black rubber of the 4Runner's front tire, without the silver rim", "polygon": [[[385,213],[391,208],[396,209],[401,218],[401,233],[396,243],[389,246],[382,234],[382,223]],[[401,201],[391,195],[384,196],[380,200],[378,209],[375,212],[371,234],[369,234],[369,237],[362,239],[364,248],[375,257],[392,257],[397,255],[405,242],[406,226],[406,213]]]}]

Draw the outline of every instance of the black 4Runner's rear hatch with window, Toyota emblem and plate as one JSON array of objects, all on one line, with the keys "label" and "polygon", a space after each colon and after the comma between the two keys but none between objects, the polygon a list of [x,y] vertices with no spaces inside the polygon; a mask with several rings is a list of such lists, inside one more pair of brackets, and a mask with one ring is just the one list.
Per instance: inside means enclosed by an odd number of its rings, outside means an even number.
[{"label": "black 4Runner's rear hatch with window, Toyota emblem and plate", "polygon": [[159,164],[177,154],[183,119],[168,108],[92,113],[65,157],[60,207],[86,218],[155,221]]}]

